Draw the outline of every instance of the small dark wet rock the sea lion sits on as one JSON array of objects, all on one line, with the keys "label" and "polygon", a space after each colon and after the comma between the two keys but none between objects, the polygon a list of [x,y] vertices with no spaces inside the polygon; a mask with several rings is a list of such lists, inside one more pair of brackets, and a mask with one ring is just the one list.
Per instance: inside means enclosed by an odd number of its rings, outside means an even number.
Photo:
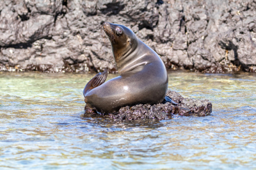
[{"label": "small dark wet rock the sea lion sits on", "polygon": [[209,100],[198,100],[195,98],[184,98],[175,91],[167,91],[166,96],[172,98],[178,105],[169,102],[165,104],[138,104],[126,106],[118,112],[109,114],[115,120],[168,120],[173,114],[180,116],[208,116],[212,112],[212,104]]}]

